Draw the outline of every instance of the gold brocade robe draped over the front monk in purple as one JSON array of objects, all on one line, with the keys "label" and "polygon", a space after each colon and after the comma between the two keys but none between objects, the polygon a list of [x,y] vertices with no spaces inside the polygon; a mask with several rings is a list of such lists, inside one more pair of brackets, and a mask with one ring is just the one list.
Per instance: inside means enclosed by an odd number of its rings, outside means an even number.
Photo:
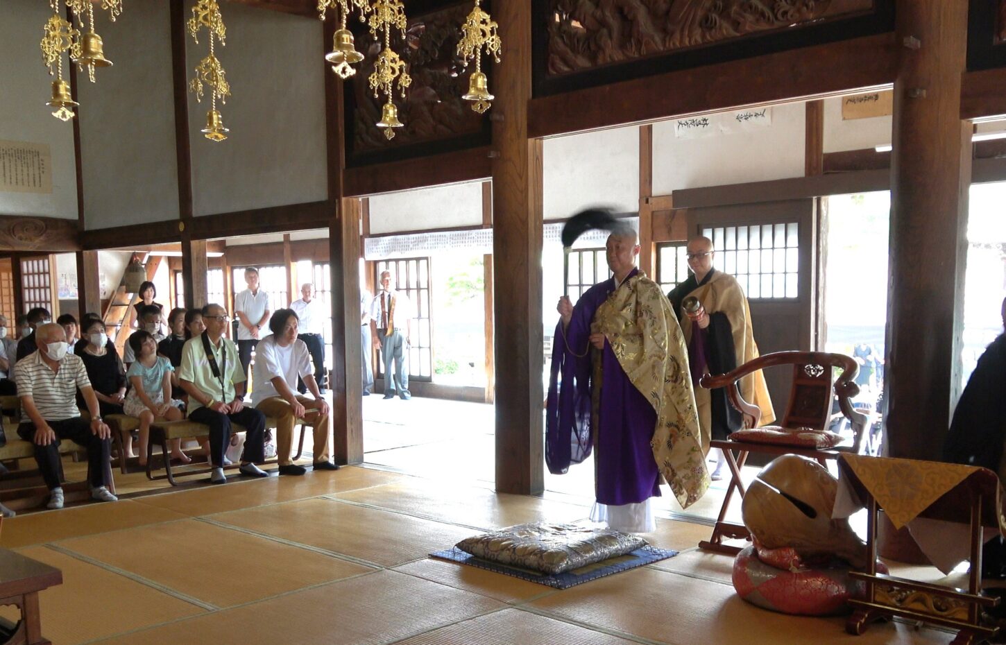
[{"label": "gold brocade robe draped over the front monk in purple", "polygon": [[626,280],[595,314],[632,384],[657,413],[650,447],[661,475],[682,508],[709,487],[699,438],[688,350],[671,304],[642,272]]}]

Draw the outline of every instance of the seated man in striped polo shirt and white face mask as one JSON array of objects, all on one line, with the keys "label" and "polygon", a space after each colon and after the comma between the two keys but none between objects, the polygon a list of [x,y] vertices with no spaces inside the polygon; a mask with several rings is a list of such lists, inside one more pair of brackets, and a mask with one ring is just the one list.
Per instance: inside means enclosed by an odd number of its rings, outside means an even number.
[{"label": "seated man in striped polo shirt and white face mask", "polygon": [[[60,487],[59,442],[69,439],[88,449],[88,473],[91,496],[103,502],[118,501],[109,490],[109,460],[112,436],[102,421],[98,397],[91,386],[83,361],[67,353],[66,332],[54,323],[35,329],[38,349],[14,366],[21,399],[21,424],[18,436],[35,445],[35,461],[49,489],[48,508],[62,508]],[[23,383],[23,384],[22,384]],[[76,390],[80,389],[91,413],[91,422],[80,418]]]}]

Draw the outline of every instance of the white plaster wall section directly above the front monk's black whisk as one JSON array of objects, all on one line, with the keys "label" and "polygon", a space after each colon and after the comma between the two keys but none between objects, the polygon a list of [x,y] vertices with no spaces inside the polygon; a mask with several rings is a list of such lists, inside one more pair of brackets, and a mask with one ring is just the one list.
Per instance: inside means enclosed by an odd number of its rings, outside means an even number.
[{"label": "white plaster wall section directly above the front monk's black whisk", "polygon": [[639,209],[639,127],[546,139],[542,151],[544,219],[589,206]]}]

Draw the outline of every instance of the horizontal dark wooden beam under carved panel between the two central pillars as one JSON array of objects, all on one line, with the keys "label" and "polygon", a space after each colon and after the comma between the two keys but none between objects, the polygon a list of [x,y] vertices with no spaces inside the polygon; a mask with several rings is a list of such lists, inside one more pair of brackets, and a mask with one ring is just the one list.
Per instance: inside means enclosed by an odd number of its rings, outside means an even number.
[{"label": "horizontal dark wooden beam under carved panel between the two central pillars", "polygon": [[382,192],[478,181],[492,175],[489,148],[473,148],[430,157],[405,159],[346,169],[346,195],[362,197]]}]

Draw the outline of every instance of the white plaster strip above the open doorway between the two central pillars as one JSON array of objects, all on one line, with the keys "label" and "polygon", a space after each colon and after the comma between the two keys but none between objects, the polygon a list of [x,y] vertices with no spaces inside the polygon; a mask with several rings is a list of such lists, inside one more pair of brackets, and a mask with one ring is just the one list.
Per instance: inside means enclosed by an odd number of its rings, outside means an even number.
[{"label": "white plaster strip above the open doorway between the two central pillars", "polygon": [[370,197],[374,234],[481,224],[481,181]]}]

